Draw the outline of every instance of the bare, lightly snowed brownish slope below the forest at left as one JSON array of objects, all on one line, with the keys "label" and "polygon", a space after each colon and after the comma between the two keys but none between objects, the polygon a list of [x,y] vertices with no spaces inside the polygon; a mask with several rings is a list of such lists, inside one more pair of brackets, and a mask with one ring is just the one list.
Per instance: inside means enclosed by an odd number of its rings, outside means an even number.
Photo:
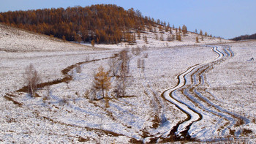
[{"label": "bare, lightly snowed brownish slope below the forest at left", "polygon": [[0,51],[91,50],[91,47],[64,42],[0,23]]}]

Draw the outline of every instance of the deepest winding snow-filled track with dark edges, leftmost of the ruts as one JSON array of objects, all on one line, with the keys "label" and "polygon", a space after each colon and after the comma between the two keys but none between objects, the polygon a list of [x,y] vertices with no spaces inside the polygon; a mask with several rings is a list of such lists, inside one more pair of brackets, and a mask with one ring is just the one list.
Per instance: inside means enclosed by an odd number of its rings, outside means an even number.
[{"label": "deepest winding snow-filled track with dark edges, leftmost of the ruts", "polygon": [[[221,51],[219,51],[217,47],[214,47],[213,50],[215,53],[218,54],[218,57],[214,61],[206,62],[203,64],[196,64],[192,67],[189,67],[187,71],[178,75],[178,84],[175,87],[167,89],[162,93],[162,97],[164,97],[168,102],[173,103],[173,105],[176,105],[178,109],[180,109],[181,111],[187,114],[187,119],[176,124],[176,126],[174,126],[173,129],[170,130],[169,132],[166,132],[167,137],[170,137],[171,135],[174,136],[172,137],[173,140],[181,140],[181,139],[192,140],[188,132],[189,128],[190,126],[192,126],[194,122],[200,121],[203,118],[203,115],[201,113],[198,113],[197,110],[190,107],[186,103],[179,101],[178,99],[175,98],[175,96],[176,96],[176,91],[178,89],[184,88],[184,86],[187,85],[187,81],[188,81],[187,75],[189,75],[189,73],[191,73],[195,69],[202,68],[206,64],[210,64],[210,63],[215,64],[217,61],[222,60],[222,58],[224,57],[224,54],[221,53]],[[163,134],[162,136],[166,137],[166,134]]]}]

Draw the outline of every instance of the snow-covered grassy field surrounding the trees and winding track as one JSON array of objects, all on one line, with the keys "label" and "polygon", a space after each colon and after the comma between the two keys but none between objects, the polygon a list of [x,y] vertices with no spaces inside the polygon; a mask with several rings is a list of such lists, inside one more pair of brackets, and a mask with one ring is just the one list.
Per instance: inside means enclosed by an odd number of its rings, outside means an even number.
[{"label": "snow-covered grassy field surrounding the trees and winding track", "polygon": [[[189,121],[182,107],[162,96],[171,88],[177,88],[174,93],[179,102],[203,115],[190,126],[188,134],[192,138],[255,143],[256,72],[255,61],[250,61],[256,58],[255,41],[225,44],[230,49],[216,44],[218,49],[214,51],[203,42],[195,43],[192,33],[184,42],[168,43],[148,34],[148,44],[138,39],[134,46],[135,50],[140,48],[140,53],[133,53],[133,46],[127,48],[127,96],[115,98],[116,77],[112,77],[110,99],[96,101],[88,98],[95,72],[99,66],[109,69],[110,57],[125,44],[97,45],[119,49],[93,50],[0,28],[0,143],[172,142],[168,132],[181,121]],[[204,42],[214,43],[211,38]],[[138,61],[144,61],[144,68],[138,67]],[[29,64],[34,64],[42,83],[61,80],[66,76],[62,70],[76,65],[68,69],[67,75],[72,76],[68,85],[39,88],[39,96],[31,97],[18,91],[25,86],[23,73]],[[178,89],[178,75],[182,73],[186,74],[182,75],[186,83]],[[156,126],[156,114],[166,121]]]}]

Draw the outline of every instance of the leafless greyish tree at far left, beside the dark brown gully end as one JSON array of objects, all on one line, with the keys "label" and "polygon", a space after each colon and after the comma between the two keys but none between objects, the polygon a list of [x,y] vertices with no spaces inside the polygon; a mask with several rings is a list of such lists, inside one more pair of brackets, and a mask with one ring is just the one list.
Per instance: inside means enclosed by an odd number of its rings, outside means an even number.
[{"label": "leafless greyish tree at far left, beside the dark brown gully end", "polygon": [[29,94],[34,96],[35,92],[37,91],[37,85],[39,84],[41,78],[39,77],[33,64],[29,64],[29,66],[25,68],[24,80],[28,86]]}]

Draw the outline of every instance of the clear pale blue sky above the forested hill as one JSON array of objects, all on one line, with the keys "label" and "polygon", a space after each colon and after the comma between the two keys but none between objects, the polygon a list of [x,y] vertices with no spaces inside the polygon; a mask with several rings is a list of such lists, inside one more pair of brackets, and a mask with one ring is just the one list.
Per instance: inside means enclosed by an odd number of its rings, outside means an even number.
[{"label": "clear pale blue sky above the forested hill", "polygon": [[58,7],[116,4],[133,7],[144,16],[207,31],[226,39],[256,33],[255,0],[0,0],[0,12]]}]

